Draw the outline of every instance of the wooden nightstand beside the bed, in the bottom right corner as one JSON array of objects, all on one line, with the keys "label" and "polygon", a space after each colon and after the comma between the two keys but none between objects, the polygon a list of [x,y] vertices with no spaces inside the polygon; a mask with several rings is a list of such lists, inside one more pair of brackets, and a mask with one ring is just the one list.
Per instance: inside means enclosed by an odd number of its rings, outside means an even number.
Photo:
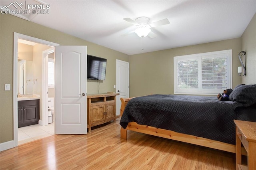
[{"label": "wooden nightstand beside the bed, in the bottom right corner", "polygon": [[[236,124],[236,170],[256,170],[256,122],[234,120]],[[242,165],[241,144],[247,152],[247,166]]]}]

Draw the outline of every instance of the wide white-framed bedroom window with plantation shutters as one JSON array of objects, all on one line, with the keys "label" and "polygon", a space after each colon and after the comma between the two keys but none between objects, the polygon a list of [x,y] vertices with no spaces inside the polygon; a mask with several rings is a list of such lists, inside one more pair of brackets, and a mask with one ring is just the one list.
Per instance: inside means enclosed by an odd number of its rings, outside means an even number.
[{"label": "wide white-framed bedroom window with plantation shutters", "polygon": [[232,50],[174,57],[174,93],[215,95],[232,86]]}]

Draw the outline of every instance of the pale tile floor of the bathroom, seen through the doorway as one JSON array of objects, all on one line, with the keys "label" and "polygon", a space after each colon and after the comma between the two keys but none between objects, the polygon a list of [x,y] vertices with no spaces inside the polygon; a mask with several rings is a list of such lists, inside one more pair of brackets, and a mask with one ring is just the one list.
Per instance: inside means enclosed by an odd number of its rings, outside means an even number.
[{"label": "pale tile floor of the bathroom, seen through the doorway", "polygon": [[18,128],[18,145],[54,135],[54,122],[46,126],[39,124]]}]

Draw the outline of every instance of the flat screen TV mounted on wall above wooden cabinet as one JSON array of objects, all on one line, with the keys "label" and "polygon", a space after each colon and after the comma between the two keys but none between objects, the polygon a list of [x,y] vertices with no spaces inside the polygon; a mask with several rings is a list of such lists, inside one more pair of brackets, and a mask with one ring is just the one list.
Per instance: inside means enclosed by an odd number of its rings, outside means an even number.
[{"label": "flat screen TV mounted on wall above wooden cabinet", "polygon": [[87,79],[105,80],[107,59],[87,55]]}]

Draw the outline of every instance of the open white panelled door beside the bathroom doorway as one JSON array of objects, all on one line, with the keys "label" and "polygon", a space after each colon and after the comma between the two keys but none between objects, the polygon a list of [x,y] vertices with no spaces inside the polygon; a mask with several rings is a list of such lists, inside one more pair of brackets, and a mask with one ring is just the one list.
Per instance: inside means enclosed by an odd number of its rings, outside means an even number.
[{"label": "open white panelled door beside the bathroom doorway", "polygon": [[86,134],[87,46],[56,46],[55,134]]}]

